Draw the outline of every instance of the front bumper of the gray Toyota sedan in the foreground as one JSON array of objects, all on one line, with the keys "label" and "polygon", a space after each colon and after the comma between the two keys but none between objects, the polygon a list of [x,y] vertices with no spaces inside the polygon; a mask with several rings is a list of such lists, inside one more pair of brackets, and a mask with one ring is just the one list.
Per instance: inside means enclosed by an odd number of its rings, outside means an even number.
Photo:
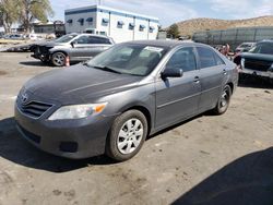
[{"label": "front bumper of the gray Toyota sedan in the foreground", "polygon": [[115,117],[91,117],[80,120],[49,121],[25,116],[15,106],[19,132],[47,153],[72,159],[105,153],[106,137]]}]

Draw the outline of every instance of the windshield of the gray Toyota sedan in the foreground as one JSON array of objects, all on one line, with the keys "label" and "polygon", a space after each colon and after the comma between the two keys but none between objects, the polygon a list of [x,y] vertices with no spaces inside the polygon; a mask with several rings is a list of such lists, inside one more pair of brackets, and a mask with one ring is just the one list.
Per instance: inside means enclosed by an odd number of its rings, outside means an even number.
[{"label": "windshield of the gray Toyota sedan in the foreground", "polygon": [[145,76],[159,63],[167,49],[157,46],[117,45],[90,60],[86,65],[116,73]]}]

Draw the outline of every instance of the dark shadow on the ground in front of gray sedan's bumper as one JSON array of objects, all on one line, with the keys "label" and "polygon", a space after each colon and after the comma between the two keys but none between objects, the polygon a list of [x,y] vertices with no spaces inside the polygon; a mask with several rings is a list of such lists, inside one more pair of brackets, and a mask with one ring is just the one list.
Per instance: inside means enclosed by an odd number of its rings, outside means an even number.
[{"label": "dark shadow on the ground in front of gray sedan's bumper", "polygon": [[72,160],[46,154],[20,135],[14,118],[0,121],[0,157],[25,167],[51,172],[67,172],[94,165],[114,164],[105,156]]}]

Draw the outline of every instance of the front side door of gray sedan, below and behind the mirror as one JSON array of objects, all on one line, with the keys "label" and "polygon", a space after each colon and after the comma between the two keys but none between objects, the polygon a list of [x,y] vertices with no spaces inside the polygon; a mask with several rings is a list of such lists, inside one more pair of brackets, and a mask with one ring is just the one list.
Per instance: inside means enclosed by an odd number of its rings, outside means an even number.
[{"label": "front side door of gray sedan, below and behind the mirror", "polygon": [[181,77],[158,77],[155,126],[163,128],[197,113],[200,98],[199,70],[193,47],[176,50],[165,69],[182,69]]}]

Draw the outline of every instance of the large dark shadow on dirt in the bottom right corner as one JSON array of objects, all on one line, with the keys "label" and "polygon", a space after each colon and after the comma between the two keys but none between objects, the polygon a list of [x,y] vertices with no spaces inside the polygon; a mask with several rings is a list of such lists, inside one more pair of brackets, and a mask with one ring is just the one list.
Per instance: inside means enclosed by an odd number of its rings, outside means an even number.
[{"label": "large dark shadow on dirt in the bottom right corner", "polygon": [[233,161],[173,204],[272,205],[273,148]]}]

